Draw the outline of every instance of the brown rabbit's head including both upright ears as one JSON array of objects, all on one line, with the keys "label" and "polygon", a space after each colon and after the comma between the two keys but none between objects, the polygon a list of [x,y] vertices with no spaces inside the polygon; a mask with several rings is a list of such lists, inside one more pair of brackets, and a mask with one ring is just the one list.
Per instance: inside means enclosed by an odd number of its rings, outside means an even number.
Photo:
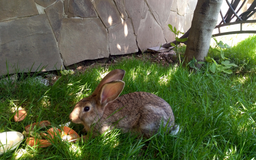
[{"label": "brown rabbit's head including both upright ears", "polygon": [[72,122],[83,124],[87,131],[90,130],[90,126],[102,117],[105,106],[115,100],[124,89],[124,74],[125,71],[121,69],[109,72],[90,96],[76,104],[69,115]]}]

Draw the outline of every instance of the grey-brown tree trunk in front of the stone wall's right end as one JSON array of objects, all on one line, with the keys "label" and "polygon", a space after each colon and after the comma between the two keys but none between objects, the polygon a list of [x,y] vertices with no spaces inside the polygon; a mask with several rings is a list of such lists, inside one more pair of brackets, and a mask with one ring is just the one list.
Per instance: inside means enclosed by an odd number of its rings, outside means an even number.
[{"label": "grey-brown tree trunk in front of the stone wall's right end", "polygon": [[[221,5],[222,0],[198,0],[184,55],[186,64],[193,58],[198,62],[205,61]],[[200,64],[196,66],[200,68]]]}]

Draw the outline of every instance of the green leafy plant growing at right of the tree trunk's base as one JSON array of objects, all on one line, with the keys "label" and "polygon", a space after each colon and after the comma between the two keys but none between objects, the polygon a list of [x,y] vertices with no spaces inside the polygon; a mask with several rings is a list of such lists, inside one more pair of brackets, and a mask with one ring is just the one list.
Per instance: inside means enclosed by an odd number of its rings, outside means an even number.
[{"label": "green leafy plant growing at right of the tree trunk's base", "polygon": [[226,58],[224,56],[224,48],[231,48],[230,46],[228,46],[228,44],[224,44],[222,41],[218,42],[215,38],[213,38],[216,42],[216,46],[212,49],[213,52],[216,53],[220,53],[221,55],[221,59],[219,61],[219,63],[216,62],[216,60],[214,60],[213,58],[211,58],[210,56],[205,57],[206,62],[197,62],[197,60],[195,58],[193,58],[193,60],[190,61],[189,66],[191,68],[195,68],[196,70],[198,70],[198,67],[196,67],[195,64],[208,64],[209,70],[212,73],[217,73],[217,72],[225,72],[228,74],[232,74],[232,70],[230,70],[230,68],[232,66],[237,67],[236,64],[234,63],[230,63],[229,59]]}]

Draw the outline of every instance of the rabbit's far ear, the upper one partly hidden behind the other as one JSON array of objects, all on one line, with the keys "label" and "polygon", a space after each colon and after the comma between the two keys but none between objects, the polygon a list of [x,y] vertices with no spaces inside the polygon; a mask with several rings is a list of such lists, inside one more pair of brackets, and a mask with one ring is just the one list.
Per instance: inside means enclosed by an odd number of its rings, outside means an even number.
[{"label": "rabbit's far ear, the upper one partly hidden behind the other", "polygon": [[[116,70],[112,70],[111,72],[109,72],[101,81],[100,84],[96,87],[96,89],[94,90],[94,92],[92,93],[92,96],[96,96],[98,94],[98,92],[100,91],[100,88],[108,83],[108,82],[112,82],[114,80],[123,80],[124,78],[124,74],[125,71],[121,70],[121,69],[116,69]],[[121,91],[122,92],[122,91]],[[119,95],[119,94],[118,94]]]}]

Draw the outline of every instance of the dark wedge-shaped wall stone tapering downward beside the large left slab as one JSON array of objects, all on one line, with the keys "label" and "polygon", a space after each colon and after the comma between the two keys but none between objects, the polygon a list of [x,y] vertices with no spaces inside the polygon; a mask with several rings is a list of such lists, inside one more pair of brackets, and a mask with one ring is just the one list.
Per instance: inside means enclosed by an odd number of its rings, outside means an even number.
[{"label": "dark wedge-shaped wall stone tapering downward beside the large left slab", "polygon": [[60,36],[60,27],[62,24],[62,14],[63,14],[63,3],[62,1],[58,1],[52,6],[45,9],[48,20],[52,26],[52,30],[58,41]]}]

